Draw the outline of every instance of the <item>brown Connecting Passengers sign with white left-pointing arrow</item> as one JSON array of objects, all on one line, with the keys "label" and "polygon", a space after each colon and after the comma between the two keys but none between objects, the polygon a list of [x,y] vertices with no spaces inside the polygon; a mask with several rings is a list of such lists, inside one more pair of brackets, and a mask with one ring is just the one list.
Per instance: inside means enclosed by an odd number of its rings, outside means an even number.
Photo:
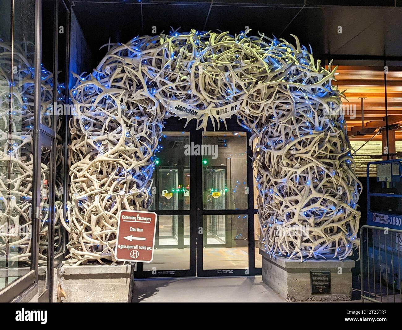
[{"label": "brown Connecting Passengers sign with white left-pointing arrow", "polygon": [[116,259],[150,263],[154,258],[156,213],[121,210],[117,227]]}]

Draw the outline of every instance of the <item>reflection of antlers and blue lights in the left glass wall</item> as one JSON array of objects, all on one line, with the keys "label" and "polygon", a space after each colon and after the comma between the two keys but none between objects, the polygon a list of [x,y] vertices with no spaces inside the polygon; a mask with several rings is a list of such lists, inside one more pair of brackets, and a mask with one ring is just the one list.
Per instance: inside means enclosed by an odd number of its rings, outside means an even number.
[{"label": "reflection of antlers and blue lights in the left glass wall", "polygon": [[[33,113],[34,113],[34,68],[31,65],[33,49],[31,43],[21,47],[14,44],[13,55],[10,45],[0,42],[0,257],[7,254],[7,243],[12,246],[11,261],[29,263],[31,256],[31,203],[33,172]],[[51,126],[55,120],[48,113],[53,102],[53,75],[41,70],[41,118],[43,124]],[[60,86],[61,92],[62,86]],[[61,125],[57,119],[56,128]],[[10,124],[10,126],[9,126]],[[57,135],[57,140],[62,141]],[[62,152],[58,147],[57,162]],[[41,172],[47,171],[48,162],[41,164]],[[57,173],[56,173],[57,175]],[[59,173],[59,178],[62,173]],[[56,179],[56,194],[60,191],[60,179]],[[58,202],[60,204],[60,202]],[[61,225],[55,224],[55,245],[61,246]],[[41,222],[39,246],[47,244],[47,222]],[[45,251],[46,252],[46,251]],[[40,262],[47,256],[39,251]]]}]

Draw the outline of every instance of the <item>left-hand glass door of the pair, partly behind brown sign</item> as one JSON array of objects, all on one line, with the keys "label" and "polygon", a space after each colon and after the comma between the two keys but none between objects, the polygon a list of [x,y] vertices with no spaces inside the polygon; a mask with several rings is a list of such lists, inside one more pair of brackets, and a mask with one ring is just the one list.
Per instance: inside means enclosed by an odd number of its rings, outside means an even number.
[{"label": "left-hand glass door of the pair, partly behind brown sign", "polygon": [[[154,156],[150,210],[158,214],[154,260],[138,264],[137,276],[195,276],[195,222],[191,224],[190,133],[164,132]],[[193,228],[194,227],[194,228]],[[193,236],[193,237],[191,237]]]}]

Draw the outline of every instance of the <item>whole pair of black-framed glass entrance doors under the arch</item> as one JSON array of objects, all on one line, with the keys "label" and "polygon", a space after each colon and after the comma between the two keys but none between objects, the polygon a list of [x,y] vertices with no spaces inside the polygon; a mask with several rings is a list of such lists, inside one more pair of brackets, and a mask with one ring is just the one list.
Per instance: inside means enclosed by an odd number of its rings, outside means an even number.
[{"label": "whole pair of black-framed glass entrance doors under the arch", "polygon": [[164,132],[151,188],[154,260],[138,263],[136,277],[260,273],[249,137],[240,130]]}]

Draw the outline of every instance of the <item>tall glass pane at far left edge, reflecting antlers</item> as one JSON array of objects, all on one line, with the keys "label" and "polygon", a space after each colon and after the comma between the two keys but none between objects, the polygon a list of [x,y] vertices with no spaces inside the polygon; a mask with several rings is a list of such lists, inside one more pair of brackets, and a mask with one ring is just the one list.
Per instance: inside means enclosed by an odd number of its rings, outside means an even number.
[{"label": "tall glass pane at far left edge, reflecting antlers", "polygon": [[31,269],[35,1],[1,8],[0,289]]}]

